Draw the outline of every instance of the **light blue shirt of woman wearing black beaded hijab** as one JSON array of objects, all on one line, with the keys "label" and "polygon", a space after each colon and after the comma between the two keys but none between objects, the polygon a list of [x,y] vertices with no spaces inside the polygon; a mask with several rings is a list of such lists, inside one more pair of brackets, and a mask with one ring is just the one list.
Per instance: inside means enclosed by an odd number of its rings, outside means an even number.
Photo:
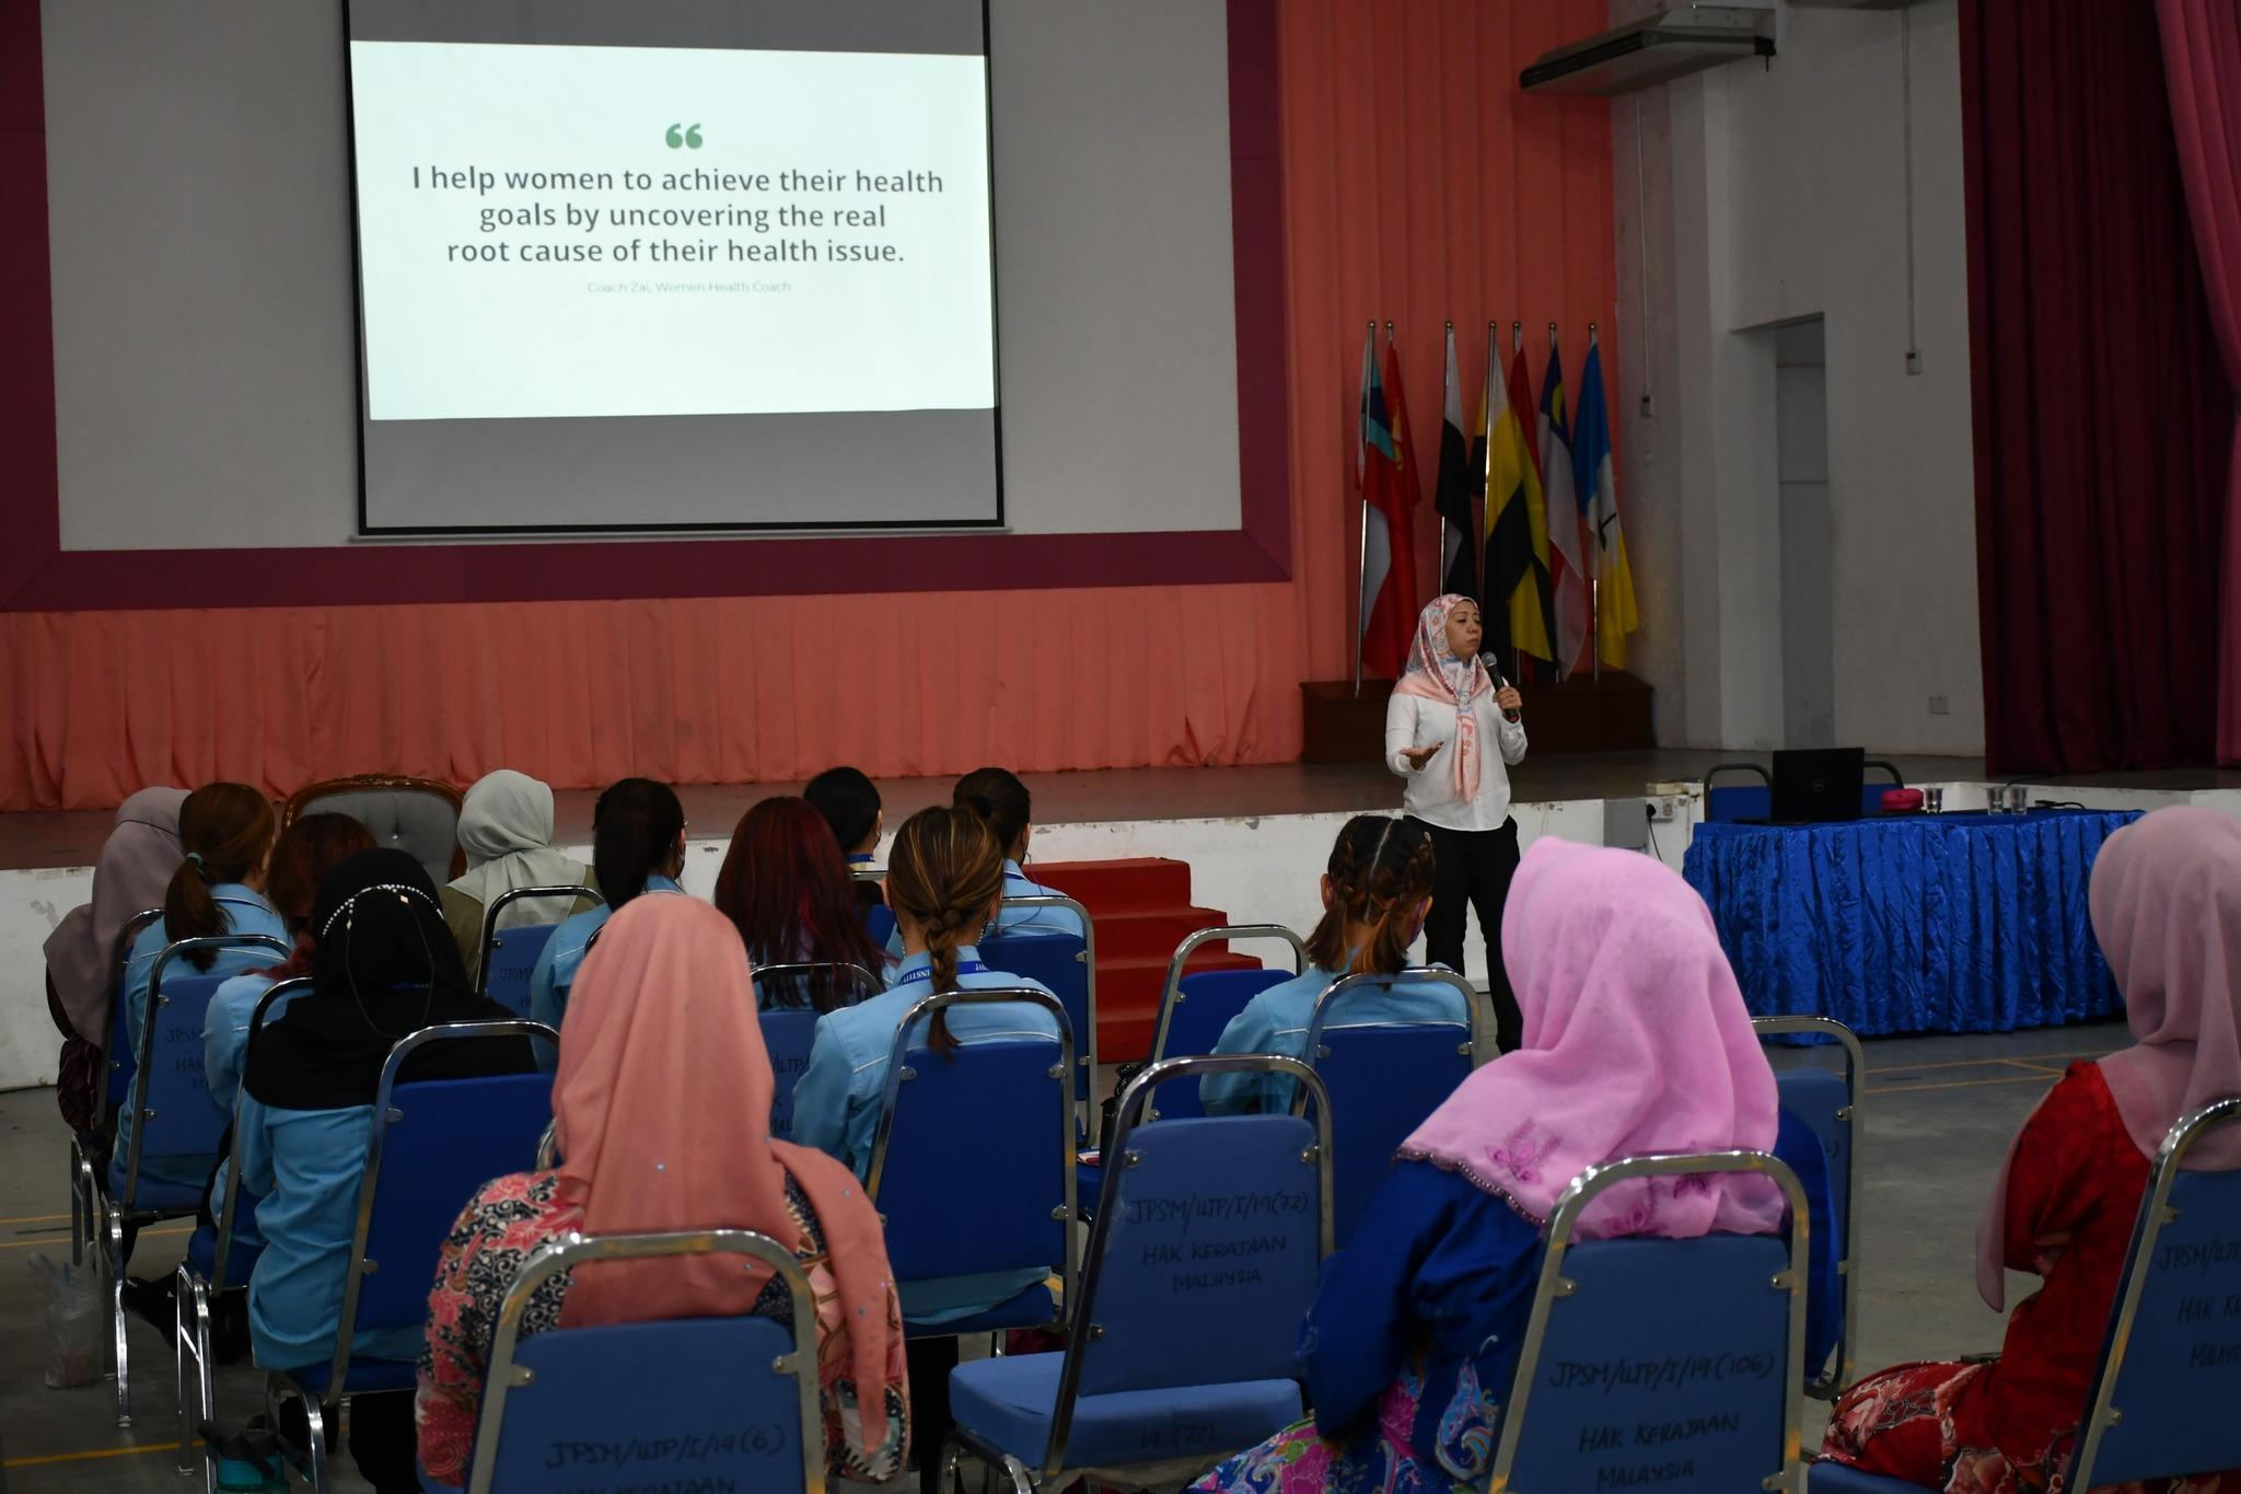
[{"label": "light blue shirt of woman wearing black beaded hijab", "polygon": [[[343,1277],[359,1223],[365,1145],[374,1107],[282,1111],[244,1093],[242,1187],[262,1194],[264,1254],[249,1277],[249,1342],[260,1369],[303,1369],[334,1357],[343,1322]],[[426,1328],[365,1333],[354,1355],[417,1360]]]}]

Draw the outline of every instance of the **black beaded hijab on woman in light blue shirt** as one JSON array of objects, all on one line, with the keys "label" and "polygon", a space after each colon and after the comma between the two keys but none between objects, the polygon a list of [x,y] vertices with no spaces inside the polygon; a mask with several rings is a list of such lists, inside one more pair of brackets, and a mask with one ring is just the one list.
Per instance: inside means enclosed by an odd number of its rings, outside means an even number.
[{"label": "black beaded hijab on woman in light blue shirt", "polygon": [[[412,1033],[511,1017],[466,979],[428,871],[403,851],[361,851],[320,878],[311,907],[311,990],[255,1035],[242,1089],[289,1111],[372,1104],[390,1048]],[[531,1066],[524,1037],[441,1042],[408,1064],[415,1080]]]}]

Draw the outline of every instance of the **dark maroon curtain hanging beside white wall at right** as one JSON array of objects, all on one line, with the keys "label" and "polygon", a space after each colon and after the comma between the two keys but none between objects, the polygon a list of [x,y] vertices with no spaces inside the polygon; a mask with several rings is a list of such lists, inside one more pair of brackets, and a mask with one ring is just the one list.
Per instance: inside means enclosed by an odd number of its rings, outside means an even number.
[{"label": "dark maroon curtain hanging beside white wall at right", "polygon": [[2212,762],[2232,392],[2156,9],[1961,0],[1992,773]]}]

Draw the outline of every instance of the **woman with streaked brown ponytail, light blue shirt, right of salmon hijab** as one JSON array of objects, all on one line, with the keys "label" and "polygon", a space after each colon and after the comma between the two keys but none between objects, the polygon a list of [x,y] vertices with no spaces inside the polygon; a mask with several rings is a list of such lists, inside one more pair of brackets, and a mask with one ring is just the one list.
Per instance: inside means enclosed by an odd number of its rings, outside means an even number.
[{"label": "woman with streaked brown ponytail, light blue shirt, right of salmon hijab", "polygon": [[[903,939],[903,963],[878,997],[818,1017],[809,1064],[793,1089],[793,1136],[856,1169],[872,1165],[872,1133],[887,1089],[887,1059],[903,1017],[943,990],[1029,986],[982,965],[975,936],[1004,896],[1004,858],[984,818],[964,809],[921,809],[903,822],[887,853],[887,905]],[[1058,1019],[1031,1006],[966,1006],[937,1012],[926,1044],[948,1057],[977,1037],[1058,1033]],[[939,1326],[1040,1290],[1042,1270],[982,1272],[903,1283],[903,1315]],[[957,1339],[910,1344],[910,1398],[919,1429],[919,1487],[934,1490],[939,1449],[950,1431],[950,1369]]]}]

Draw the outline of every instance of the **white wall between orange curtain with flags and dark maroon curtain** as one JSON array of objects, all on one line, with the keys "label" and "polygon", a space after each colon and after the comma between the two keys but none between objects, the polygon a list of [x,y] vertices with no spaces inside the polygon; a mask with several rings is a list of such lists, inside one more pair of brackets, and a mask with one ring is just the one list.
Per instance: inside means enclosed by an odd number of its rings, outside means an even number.
[{"label": "white wall between orange curtain with flags and dark maroon curtain", "polygon": [[[1611,7],[1614,20],[1649,9],[1652,0]],[[1903,29],[1914,74],[1918,376],[1905,367]],[[1820,316],[1835,739],[1981,753],[1952,0],[1907,11],[1784,9],[1773,65],[1732,63],[1611,110],[1618,305],[1640,323],[1622,340],[1625,387],[1654,401],[1654,417],[1622,417],[1634,466],[1627,531],[1645,573],[1636,672],[1658,690],[1658,741],[1782,746],[1770,329]],[[1932,694],[1950,715],[1930,715]]]}]

